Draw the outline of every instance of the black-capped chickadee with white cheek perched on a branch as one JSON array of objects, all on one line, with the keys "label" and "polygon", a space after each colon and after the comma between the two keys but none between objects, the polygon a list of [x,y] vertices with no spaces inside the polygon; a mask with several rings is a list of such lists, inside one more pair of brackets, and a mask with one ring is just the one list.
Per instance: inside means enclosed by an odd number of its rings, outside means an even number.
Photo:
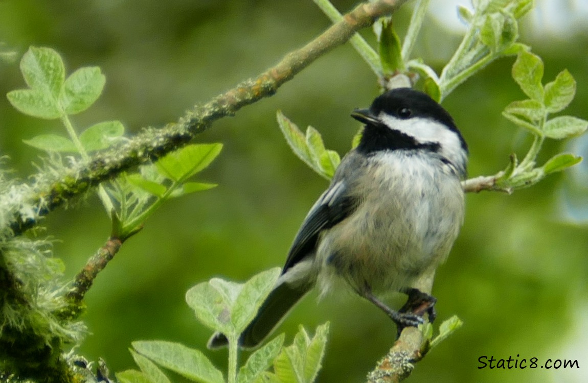
[{"label": "black-capped chickadee with white cheek perched on a branch", "polygon": [[[324,294],[340,281],[389,315],[398,334],[425,314],[435,319],[427,292],[463,223],[466,142],[443,107],[410,88],[352,117],[365,124],[360,143],[303,221],[272,293],[240,336],[243,348],[262,342],[315,285]],[[376,297],[390,291],[408,295],[399,311]],[[215,334],[209,347],[226,342]]]}]

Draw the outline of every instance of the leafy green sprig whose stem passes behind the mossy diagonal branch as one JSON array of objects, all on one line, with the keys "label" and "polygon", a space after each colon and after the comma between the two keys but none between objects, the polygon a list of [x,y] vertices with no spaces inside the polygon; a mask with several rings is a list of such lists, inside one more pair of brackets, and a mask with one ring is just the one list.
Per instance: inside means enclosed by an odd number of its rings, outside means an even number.
[{"label": "leafy green sprig whose stem passes behind the mossy diagonal branch", "polygon": [[[65,78],[59,53],[32,46],[22,57],[21,72],[29,89],[8,92],[8,100],[25,114],[61,119],[69,135],[69,139],[55,134],[38,135],[24,140],[27,145],[46,152],[79,153],[89,160],[88,153],[107,149],[121,140],[125,128],[119,121],[96,123],[78,136],[69,119],[88,109],[101,95],[105,76],[100,68],[79,68]],[[216,184],[188,179],[205,169],[221,149],[220,144],[189,145],[159,159],[153,169],[143,167],[141,174],[113,181],[110,194],[106,187],[99,186],[98,194],[113,218],[113,233],[125,240],[166,200],[215,187]],[[112,214],[115,202],[119,209]]]}]

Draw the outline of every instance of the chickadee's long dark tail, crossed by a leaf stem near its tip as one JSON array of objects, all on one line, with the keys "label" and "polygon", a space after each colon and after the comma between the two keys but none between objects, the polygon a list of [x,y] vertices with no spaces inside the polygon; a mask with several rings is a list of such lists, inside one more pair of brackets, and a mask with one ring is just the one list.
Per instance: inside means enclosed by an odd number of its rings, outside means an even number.
[{"label": "chickadee's long dark tail, crossed by a leaf stem near its tip", "polygon": [[[312,284],[292,286],[280,283],[269,294],[259,308],[258,314],[239,338],[242,348],[254,348],[259,345],[286,317],[296,303],[312,288]],[[225,335],[216,332],[208,341],[208,348],[223,347],[228,343]]]}]

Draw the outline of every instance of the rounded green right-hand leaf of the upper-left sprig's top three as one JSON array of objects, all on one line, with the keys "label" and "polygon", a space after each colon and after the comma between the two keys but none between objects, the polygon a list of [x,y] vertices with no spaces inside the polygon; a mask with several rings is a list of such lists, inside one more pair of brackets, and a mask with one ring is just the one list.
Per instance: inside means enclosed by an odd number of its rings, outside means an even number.
[{"label": "rounded green right-hand leaf of the upper-left sprig's top three", "polygon": [[69,75],[59,95],[65,113],[75,115],[88,109],[100,97],[105,82],[98,66],[80,68]]}]

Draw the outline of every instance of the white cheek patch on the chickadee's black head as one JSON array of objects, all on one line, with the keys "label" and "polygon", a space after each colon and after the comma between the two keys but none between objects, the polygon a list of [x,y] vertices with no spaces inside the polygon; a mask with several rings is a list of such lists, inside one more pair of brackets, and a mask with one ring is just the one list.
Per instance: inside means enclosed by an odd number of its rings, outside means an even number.
[{"label": "white cheek patch on the chickadee's black head", "polygon": [[459,136],[442,123],[423,117],[403,120],[386,113],[380,113],[379,118],[390,129],[414,137],[418,143],[439,143],[439,154],[456,165],[465,164],[466,153]]}]

